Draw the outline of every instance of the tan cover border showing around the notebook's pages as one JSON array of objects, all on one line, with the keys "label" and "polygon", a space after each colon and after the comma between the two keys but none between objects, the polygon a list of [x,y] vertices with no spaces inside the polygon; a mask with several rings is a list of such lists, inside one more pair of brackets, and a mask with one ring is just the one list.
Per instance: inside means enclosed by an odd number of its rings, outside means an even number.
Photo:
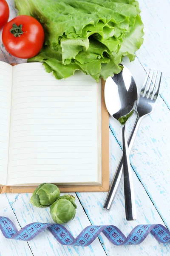
[{"label": "tan cover border showing around the notebook's pages", "polygon": [[[104,99],[105,81],[102,80],[102,185],[63,185],[61,192],[99,192],[109,189],[109,114]],[[1,193],[32,193],[37,186],[2,186]]]}]

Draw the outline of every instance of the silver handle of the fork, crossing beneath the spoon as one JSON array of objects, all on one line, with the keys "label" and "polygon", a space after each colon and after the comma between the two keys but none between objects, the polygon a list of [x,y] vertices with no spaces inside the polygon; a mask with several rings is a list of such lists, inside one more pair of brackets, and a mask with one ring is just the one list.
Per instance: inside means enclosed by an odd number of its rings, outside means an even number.
[{"label": "silver handle of the fork, crossing beneath the spoon", "polygon": [[[133,143],[135,141],[135,137],[136,137],[136,134],[137,134],[137,131],[139,129],[139,125],[140,125],[141,121],[142,121],[142,117],[139,117],[139,115],[138,115],[137,118],[136,118],[136,122],[133,126],[133,129],[131,131],[129,140],[127,142],[129,153],[132,149],[132,146],[133,146]],[[106,198],[105,203],[103,205],[103,209],[106,209],[106,210],[110,211],[110,209],[113,205],[113,201],[114,201],[114,198],[116,196],[121,178],[122,178],[122,173],[123,173],[123,156],[121,157],[119,165],[116,169],[116,172],[115,172],[115,175],[113,177],[113,180],[112,180],[107,198]]]}]

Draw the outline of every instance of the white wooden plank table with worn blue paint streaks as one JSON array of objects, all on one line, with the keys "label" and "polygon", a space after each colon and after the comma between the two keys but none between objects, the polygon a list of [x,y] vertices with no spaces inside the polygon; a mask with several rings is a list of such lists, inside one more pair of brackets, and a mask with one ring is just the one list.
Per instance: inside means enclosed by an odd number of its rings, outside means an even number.
[{"label": "white wooden plank table with worn blue paint streaks", "polygon": [[[10,19],[16,15],[13,0],[10,5]],[[137,52],[136,60],[129,64],[138,89],[142,86],[149,68],[163,71],[160,95],[154,112],[143,119],[133,150],[130,154],[136,195],[137,221],[125,219],[123,183],[119,187],[110,212],[102,209],[107,193],[72,193],[76,198],[77,214],[66,227],[74,236],[88,225],[114,224],[125,235],[137,224],[159,223],[170,227],[170,1],[139,0],[142,20],[145,25],[144,44]],[[13,58],[0,44],[0,60],[21,63]],[[130,120],[127,134],[134,122]],[[110,180],[122,155],[121,129],[110,119]],[[9,217],[20,229],[35,221],[52,222],[49,208],[32,207],[31,194],[0,195],[0,215]],[[170,246],[159,244],[149,235],[142,244],[116,247],[100,235],[89,247],[67,247],[59,244],[48,230],[29,242],[7,240],[0,233],[1,256],[165,256],[170,255]]]}]

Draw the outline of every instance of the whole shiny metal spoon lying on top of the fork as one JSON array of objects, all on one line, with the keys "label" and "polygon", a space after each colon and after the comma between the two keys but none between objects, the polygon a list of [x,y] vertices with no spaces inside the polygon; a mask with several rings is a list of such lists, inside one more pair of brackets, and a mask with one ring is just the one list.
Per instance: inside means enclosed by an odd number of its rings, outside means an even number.
[{"label": "whole shiny metal spoon lying on top of the fork", "polygon": [[123,65],[118,75],[108,77],[105,83],[105,103],[108,112],[122,125],[123,175],[125,193],[125,211],[128,221],[136,220],[135,197],[130,168],[125,124],[136,110],[138,95],[136,83],[130,71]]}]

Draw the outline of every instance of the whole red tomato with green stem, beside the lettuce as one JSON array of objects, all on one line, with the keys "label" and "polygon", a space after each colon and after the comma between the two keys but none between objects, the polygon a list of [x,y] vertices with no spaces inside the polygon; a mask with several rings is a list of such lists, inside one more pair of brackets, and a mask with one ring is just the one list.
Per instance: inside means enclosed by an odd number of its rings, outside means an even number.
[{"label": "whole red tomato with green stem, beside the lettuce", "polygon": [[4,47],[11,55],[17,58],[32,58],[42,48],[44,30],[33,17],[20,15],[4,26],[2,39]]}]

